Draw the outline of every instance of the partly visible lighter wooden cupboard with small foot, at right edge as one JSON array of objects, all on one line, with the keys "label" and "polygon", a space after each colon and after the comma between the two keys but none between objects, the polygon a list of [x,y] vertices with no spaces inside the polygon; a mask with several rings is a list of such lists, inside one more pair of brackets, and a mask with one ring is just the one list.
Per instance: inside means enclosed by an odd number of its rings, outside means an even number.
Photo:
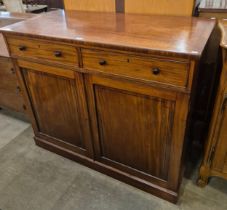
[{"label": "partly visible lighter wooden cupboard with small foot, at right edge", "polygon": [[227,23],[219,24],[222,31],[223,69],[218,87],[204,159],[200,168],[198,185],[205,186],[211,176],[227,179]]}]

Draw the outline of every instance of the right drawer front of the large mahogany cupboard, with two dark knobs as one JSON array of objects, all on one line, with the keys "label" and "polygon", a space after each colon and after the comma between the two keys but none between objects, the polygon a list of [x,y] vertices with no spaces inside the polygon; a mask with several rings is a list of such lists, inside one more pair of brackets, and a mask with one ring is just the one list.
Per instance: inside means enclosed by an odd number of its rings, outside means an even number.
[{"label": "right drawer front of the large mahogany cupboard, with two dark knobs", "polygon": [[189,63],[82,49],[83,67],[106,73],[186,87]]}]

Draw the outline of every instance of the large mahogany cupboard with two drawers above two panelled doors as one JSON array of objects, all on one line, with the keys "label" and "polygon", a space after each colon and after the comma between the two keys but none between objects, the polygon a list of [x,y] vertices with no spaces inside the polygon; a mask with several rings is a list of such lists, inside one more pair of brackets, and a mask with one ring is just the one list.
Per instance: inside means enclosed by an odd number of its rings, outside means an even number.
[{"label": "large mahogany cupboard with two drawers above two panelled doors", "polygon": [[214,26],[55,11],[2,29],[36,144],[176,202],[196,67]]}]

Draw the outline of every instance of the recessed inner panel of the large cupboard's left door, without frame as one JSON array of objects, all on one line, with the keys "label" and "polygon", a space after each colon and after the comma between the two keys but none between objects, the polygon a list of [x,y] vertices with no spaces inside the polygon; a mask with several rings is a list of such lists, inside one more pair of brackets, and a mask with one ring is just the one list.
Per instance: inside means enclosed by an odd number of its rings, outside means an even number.
[{"label": "recessed inner panel of the large cupboard's left door, without frame", "polygon": [[23,74],[40,132],[84,148],[74,81],[33,71]]}]

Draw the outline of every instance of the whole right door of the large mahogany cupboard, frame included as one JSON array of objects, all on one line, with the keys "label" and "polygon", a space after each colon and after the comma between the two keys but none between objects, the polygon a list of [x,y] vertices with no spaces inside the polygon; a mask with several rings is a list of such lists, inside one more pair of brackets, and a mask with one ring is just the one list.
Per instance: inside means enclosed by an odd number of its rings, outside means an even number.
[{"label": "whole right door of the large mahogany cupboard, frame included", "polygon": [[181,154],[175,124],[185,120],[176,109],[177,93],[97,76],[86,77],[86,88],[96,160],[163,187],[174,183],[180,167],[171,153]]}]

